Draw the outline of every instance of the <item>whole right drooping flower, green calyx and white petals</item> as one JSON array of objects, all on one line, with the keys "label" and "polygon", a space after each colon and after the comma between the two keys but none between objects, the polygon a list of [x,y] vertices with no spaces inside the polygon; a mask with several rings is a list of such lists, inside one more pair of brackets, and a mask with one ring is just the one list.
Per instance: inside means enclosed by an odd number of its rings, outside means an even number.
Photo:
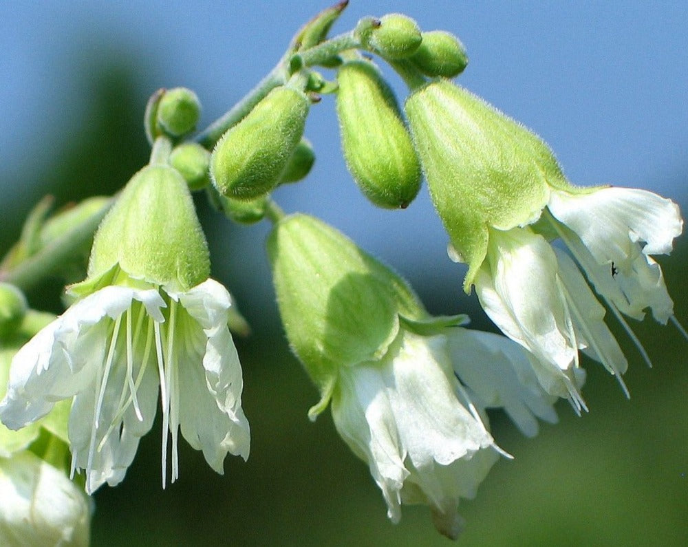
[{"label": "whole right drooping flower, green calyx and white petals", "polygon": [[[680,235],[678,206],[643,190],[572,186],[537,136],[449,81],[418,87],[406,111],[450,256],[469,266],[464,289],[475,285],[488,316],[537,358],[548,393],[585,408],[579,350],[627,393],[626,358],[588,282],[647,358],[623,314],[643,319],[649,308],[678,325],[651,256]],[[557,238],[574,260],[550,245]]]}]

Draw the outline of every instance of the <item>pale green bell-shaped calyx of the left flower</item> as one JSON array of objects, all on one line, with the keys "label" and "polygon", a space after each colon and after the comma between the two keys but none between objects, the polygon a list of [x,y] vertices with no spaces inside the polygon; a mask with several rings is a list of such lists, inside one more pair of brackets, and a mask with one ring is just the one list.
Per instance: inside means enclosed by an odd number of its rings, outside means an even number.
[{"label": "pale green bell-shaped calyx of the left flower", "polygon": [[186,182],[172,167],[148,165],[133,175],[96,232],[87,280],[70,292],[87,294],[116,267],[172,291],[208,279],[206,239]]}]

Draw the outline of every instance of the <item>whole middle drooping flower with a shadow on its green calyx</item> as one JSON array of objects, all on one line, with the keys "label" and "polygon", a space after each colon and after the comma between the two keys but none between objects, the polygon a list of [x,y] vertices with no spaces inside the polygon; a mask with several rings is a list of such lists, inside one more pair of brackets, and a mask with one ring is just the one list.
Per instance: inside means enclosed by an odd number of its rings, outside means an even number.
[{"label": "whole middle drooping flower with a shadow on its green calyx", "polygon": [[504,407],[528,435],[536,416],[556,420],[526,352],[461,328],[464,316],[431,317],[405,281],[313,217],[277,222],[268,252],[288,339],[321,390],[309,415],[331,401],[393,522],[402,504],[427,504],[457,537],[460,498],[475,496],[502,453],[484,409]]}]

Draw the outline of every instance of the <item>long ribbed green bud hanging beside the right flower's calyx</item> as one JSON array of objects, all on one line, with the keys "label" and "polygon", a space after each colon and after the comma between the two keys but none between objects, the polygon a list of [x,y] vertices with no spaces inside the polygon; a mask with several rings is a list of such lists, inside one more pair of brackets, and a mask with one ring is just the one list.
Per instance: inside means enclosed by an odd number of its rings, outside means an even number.
[{"label": "long ribbed green bud hanging beside the right flower's calyx", "polygon": [[374,204],[405,208],[420,189],[420,164],[394,93],[367,61],[342,65],[337,115],[347,167]]}]

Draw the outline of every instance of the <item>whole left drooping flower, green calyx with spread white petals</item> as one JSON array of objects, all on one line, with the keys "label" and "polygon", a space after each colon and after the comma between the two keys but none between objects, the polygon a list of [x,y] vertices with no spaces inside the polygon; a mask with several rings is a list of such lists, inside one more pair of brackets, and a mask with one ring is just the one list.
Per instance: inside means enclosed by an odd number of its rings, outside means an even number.
[{"label": "whole left drooping flower, green calyx with spread white petals", "polygon": [[86,489],[118,484],[162,405],[162,484],[178,431],[218,473],[248,458],[230,295],[208,279],[208,253],[181,176],[164,165],[129,181],[103,220],[76,303],[14,356],[0,418],[18,429],[72,399],[72,473]]}]

